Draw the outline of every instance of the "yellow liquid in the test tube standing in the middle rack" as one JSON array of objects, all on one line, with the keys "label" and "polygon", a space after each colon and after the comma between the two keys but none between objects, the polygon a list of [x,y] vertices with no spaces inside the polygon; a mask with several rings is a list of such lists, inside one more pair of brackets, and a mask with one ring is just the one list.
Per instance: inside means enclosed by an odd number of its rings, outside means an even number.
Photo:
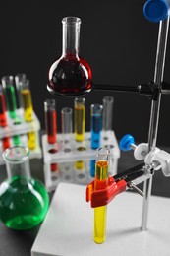
[{"label": "yellow liquid in the test tube standing in the middle rack", "polygon": [[85,105],[75,107],[75,139],[78,142],[85,139]]}]

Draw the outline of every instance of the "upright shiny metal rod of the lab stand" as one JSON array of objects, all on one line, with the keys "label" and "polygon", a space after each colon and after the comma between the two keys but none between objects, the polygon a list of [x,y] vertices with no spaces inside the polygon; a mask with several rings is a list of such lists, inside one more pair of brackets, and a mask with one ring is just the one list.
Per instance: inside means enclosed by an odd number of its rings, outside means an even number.
[{"label": "upright shiny metal rod of the lab stand", "polygon": [[[159,122],[159,110],[161,101],[161,83],[163,81],[165,55],[166,55],[166,44],[168,37],[169,28],[169,16],[166,20],[161,21],[159,24],[158,42],[157,42],[157,52],[156,52],[156,62],[155,62],[155,72],[154,72],[154,83],[159,87],[159,94],[157,100],[152,100],[151,103],[151,113],[150,113],[150,124],[148,131],[148,151],[154,151],[157,139],[157,130]],[[142,230],[147,228],[147,217],[148,217],[148,205],[149,198],[152,188],[152,177],[144,182],[143,192],[143,207],[142,207]]]}]

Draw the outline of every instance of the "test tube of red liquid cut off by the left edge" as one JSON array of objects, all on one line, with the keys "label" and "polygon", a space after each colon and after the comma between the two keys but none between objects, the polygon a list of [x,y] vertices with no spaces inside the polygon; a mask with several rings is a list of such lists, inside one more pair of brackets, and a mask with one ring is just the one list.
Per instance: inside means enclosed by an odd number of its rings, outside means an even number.
[{"label": "test tube of red liquid cut off by the left edge", "polygon": [[[6,116],[6,105],[5,105],[5,96],[2,91],[2,85],[0,85],[0,127],[7,126],[7,116]],[[10,147],[10,137],[7,136],[2,139],[2,148],[5,151]]]}]

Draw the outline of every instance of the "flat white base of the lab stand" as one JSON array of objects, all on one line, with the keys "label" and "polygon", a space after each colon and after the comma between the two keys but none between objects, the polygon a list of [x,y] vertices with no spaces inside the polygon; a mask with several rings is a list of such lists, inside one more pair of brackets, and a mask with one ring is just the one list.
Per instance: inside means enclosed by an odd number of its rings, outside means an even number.
[{"label": "flat white base of the lab stand", "polygon": [[170,252],[170,199],[152,196],[148,230],[141,230],[142,197],[118,195],[107,206],[103,244],[92,238],[93,209],[85,202],[85,186],[60,183],[31,249],[31,256],[160,256]]}]

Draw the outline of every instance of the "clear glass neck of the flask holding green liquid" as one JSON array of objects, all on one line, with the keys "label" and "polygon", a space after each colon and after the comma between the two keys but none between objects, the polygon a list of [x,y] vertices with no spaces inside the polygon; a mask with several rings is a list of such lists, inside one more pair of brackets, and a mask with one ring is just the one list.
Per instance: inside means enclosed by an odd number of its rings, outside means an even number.
[{"label": "clear glass neck of the flask holding green liquid", "polygon": [[12,179],[14,176],[30,178],[28,155],[28,148],[23,146],[13,146],[4,151],[3,159],[8,179]]}]

